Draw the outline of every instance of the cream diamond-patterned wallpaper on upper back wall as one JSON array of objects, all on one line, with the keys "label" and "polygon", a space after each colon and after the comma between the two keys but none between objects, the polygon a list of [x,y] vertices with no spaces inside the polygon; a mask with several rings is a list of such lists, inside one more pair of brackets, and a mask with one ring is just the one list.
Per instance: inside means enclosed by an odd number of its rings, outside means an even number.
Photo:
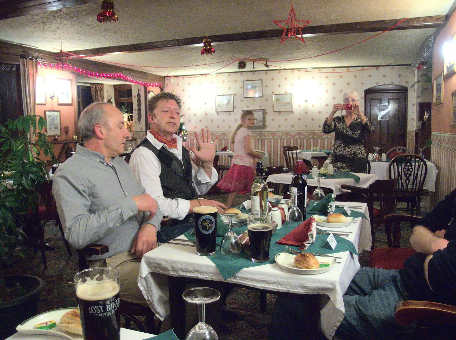
[{"label": "cream diamond-patterned wallpaper on upper back wall", "polygon": [[[249,66],[248,66],[249,67]],[[364,106],[364,90],[383,84],[415,83],[415,69],[408,66],[381,67],[360,72],[352,69],[268,70],[257,72],[204,75],[191,78],[165,78],[165,90],[182,98],[183,120],[189,131],[209,128],[231,132],[242,110],[265,109],[266,128],[261,131],[320,131],[332,105],[342,102],[347,90],[356,89]],[[243,80],[263,80],[263,96],[244,98]],[[407,131],[415,130],[415,90],[409,89]],[[293,112],[274,112],[273,94],[292,93]],[[215,112],[216,95],[234,95],[233,112]]]}]

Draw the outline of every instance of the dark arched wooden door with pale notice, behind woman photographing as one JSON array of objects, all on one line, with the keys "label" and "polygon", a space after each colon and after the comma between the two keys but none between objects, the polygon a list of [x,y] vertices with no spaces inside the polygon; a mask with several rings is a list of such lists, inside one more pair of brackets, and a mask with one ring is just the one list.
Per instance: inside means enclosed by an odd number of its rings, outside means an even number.
[{"label": "dark arched wooden door with pale notice, behind woman photographing", "polygon": [[366,150],[379,147],[385,153],[395,146],[407,147],[407,91],[366,90],[364,98],[365,115],[374,127],[364,138]]}]

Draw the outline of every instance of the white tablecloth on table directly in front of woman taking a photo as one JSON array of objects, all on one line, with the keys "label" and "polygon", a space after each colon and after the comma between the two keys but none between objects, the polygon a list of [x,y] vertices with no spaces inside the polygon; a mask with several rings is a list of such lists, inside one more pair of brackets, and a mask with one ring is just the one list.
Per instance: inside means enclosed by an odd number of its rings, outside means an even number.
[{"label": "white tablecloth on table directly in front of woman taking a photo", "polygon": [[[375,174],[361,174],[357,172],[353,172],[354,175],[359,176],[359,183],[357,183],[352,178],[325,178],[320,180],[320,186],[324,188],[332,189],[334,195],[340,194],[342,184],[349,184],[352,186],[360,186],[363,188],[367,188],[373,182],[378,180],[377,175]],[[293,174],[276,174],[276,175],[269,175],[266,182],[273,182],[273,183],[282,183],[282,184],[290,184],[291,180],[293,179]],[[314,178],[307,179],[308,186],[317,186],[317,180]]]}]

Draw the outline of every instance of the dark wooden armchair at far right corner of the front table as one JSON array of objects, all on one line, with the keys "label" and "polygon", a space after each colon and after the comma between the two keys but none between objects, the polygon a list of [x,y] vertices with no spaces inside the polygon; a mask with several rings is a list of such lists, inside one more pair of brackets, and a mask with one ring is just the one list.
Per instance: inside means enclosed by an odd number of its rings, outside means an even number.
[{"label": "dark wooden armchair at far right corner of the front table", "polygon": [[[349,186],[343,184],[341,189],[350,190],[352,192],[360,192],[368,197],[369,219],[371,223],[372,248],[375,242],[375,233],[380,224],[383,223],[383,218],[386,214],[394,211],[394,194],[396,192],[395,178],[391,180],[377,180],[368,188],[359,186]],[[378,202],[379,208],[374,208],[373,203]]]}]

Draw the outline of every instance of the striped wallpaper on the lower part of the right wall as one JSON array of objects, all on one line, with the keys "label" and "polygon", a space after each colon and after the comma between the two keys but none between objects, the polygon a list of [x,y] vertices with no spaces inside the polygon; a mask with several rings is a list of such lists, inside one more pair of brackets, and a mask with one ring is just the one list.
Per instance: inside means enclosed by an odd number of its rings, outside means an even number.
[{"label": "striped wallpaper on the lower part of the right wall", "polygon": [[456,188],[456,134],[432,133],[431,162],[437,167],[435,192],[430,191],[430,208]]}]

